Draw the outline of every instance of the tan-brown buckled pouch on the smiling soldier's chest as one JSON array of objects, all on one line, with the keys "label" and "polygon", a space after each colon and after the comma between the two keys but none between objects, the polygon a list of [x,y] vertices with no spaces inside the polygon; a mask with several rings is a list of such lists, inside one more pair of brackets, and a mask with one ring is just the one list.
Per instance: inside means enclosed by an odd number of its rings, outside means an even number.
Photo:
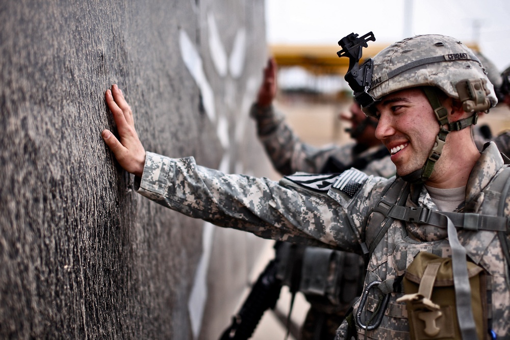
[{"label": "tan-brown buckled pouch on the smiling soldier's chest", "polygon": [[[467,262],[471,306],[478,339],[487,338],[487,286],[482,268]],[[455,307],[452,260],[419,252],[403,278],[410,336],[422,339],[461,339]]]}]

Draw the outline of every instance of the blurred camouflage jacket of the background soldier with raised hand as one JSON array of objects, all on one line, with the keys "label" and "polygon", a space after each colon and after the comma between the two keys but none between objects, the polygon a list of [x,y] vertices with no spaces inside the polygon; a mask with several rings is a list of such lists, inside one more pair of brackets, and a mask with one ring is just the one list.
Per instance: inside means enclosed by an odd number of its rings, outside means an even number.
[{"label": "blurred camouflage jacket of the background soldier with raised hand", "polygon": [[[395,174],[395,165],[382,144],[369,149],[355,143],[316,148],[299,140],[285,122],[283,114],[273,106],[261,109],[253,104],[250,116],[257,119],[259,138],[273,166],[281,174],[289,175],[297,171],[324,173],[323,169],[331,158],[345,166],[356,160],[367,160],[365,166],[358,168],[368,175],[391,177]],[[381,152],[384,156],[379,155]]]}]

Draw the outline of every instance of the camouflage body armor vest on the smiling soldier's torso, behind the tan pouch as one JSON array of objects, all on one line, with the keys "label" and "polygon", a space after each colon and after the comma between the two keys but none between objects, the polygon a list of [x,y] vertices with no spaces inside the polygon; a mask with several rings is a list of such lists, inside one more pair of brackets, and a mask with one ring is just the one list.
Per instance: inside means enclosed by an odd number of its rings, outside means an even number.
[{"label": "camouflage body armor vest on the smiling soldier's torso, behind the tan pouch", "polygon": [[[508,196],[509,176],[510,168],[504,167],[475,199],[467,202],[462,213],[440,213],[418,207],[411,199],[409,184],[401,178],[390,181],[368,218],[366,242],[362,245],[367,255],[368,271],[365,292],[354,305],[359,338],[365,338],[365,332],[368,339],[409,338],[405,303],[396,302],[404,295],[401,280],[420,251],[451,257],[446,225],[441,226],[442,222],[438,220],[443,214],[455,222],[458,239],[465,247],[468,259],[488,274],[489,318],[498,320],[503,317],[491,315],[491,291],[498,282],[494,282],[490,273],[504,273],[509,263],[508,218],[502,213],[506,200],[501,200]],[[497,242],[505,253],[499,262],[484,260],[484,254],[493,242]],[[506,258],[506,264],[503,258]]]}]

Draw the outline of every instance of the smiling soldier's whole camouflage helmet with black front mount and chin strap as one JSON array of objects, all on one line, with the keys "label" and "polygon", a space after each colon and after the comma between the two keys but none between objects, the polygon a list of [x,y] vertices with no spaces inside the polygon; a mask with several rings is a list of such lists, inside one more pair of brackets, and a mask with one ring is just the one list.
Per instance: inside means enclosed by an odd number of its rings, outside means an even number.
[{"label": "smiling soldier's whole camouflage helmet with black front mount and chin strap", "polygon": [[[361,47],[367,47],[368,40],[375,40],[371,32],[361,38],[351,33],[339,41],[343,49],[338,55],[350,58],[345,80],[368,116],[374,116],[374,103],[382,97],[407,88],[423,87],[441,128],[423,168],[404,179],[425,181],[441,156],[446,135],[476,124],[478,112],[496,105],[494,87],[473,51],[457,39],[443,35],[406,38],[386,47],[360,67],[357,64],[361,59]],[[353,53],[353,46],[360,50]],[[358,61],[354,62],[354,56],[359,57]],[[472,115],[448,122],[448,112],[434,88],[461,101],[464,111]]]}]

